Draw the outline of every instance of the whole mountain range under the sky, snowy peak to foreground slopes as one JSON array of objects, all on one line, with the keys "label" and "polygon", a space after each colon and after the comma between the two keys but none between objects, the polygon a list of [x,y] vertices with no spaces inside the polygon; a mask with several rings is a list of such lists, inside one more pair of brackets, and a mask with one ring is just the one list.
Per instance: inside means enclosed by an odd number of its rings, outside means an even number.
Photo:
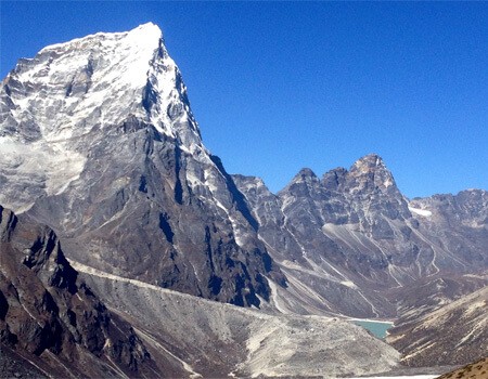
[{"label": "whole mountain range under the sky, snowy peak to foreground slopes", "polygon": [[[398,364],[347,317],[396,319],[388,341],[403,364],[446,365],[435,357],[446,349],[439,331],[419,323],[446,314],[441,326],[457,325],[449,310],[487,284],[486,191],[409,199],[376,154],[321,178],[303,169],[278,194],[228,173],[151,23],[20,60],[0,103],[2,220],[22,226],[2,221],[1,341],[33,370],[62,373],[59,361],[82,373],[75,350],[98,362],[91,376],[358,375]],[[465,338],[486,330],[472,311],[480,304],[463,311],[475,318],[462,336],[449,332],[479,354],[452,363],[488,355],[483,339]]]}]

